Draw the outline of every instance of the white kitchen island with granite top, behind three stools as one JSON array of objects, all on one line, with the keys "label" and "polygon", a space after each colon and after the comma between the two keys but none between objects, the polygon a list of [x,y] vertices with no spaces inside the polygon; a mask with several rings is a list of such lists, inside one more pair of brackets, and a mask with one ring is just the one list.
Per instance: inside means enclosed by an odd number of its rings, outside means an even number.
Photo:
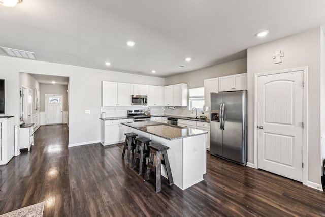
[{"label": "white kitchen island with granite top, behind three stools", "polygon": [[[167,150],[174,184],[182,190],[204,180],[206,173],[207,131],[167,125],[156,121],[121,123],[132,128],[138,137],[169,147]],[[167,178],[166,168],[161,165],[161,175]]]}]

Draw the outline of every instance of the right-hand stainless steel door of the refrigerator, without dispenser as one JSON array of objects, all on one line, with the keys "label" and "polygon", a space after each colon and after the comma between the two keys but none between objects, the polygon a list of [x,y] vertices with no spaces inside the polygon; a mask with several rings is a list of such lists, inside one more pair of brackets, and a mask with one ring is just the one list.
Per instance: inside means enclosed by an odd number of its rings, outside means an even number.
[{"label": "right-hand stainless steel door of the refrigerator, without dispenser", "polygon": [[228,158],[240,163],[246,162],[245,150],[245,102],[246,92],[225,92],[224,104],[224,130],[223,153]]}]

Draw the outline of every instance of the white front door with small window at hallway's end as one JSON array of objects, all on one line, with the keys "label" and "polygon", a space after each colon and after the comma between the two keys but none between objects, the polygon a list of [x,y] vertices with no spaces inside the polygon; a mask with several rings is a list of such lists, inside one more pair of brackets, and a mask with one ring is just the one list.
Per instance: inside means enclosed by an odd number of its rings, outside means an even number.
[{"label": "white front door with small window at hallway's end", "polygon": [[45,96],[46,124],[62,123],[63,95]]}]

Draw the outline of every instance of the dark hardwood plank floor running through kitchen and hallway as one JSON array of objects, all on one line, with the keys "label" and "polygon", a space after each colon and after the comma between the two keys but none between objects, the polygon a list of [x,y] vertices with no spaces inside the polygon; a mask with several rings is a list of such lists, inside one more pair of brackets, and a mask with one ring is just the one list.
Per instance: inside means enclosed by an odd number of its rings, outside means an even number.
[{"label": "dark hardwood plank floor running through kitchen and hallway", "polygon": [[0,166],[0,214],[45,201],[44,216],[325,216],[325,194],[207,154],[205,180],[161,192],[121,159],[122,144],[68,149],[65,125]]}]

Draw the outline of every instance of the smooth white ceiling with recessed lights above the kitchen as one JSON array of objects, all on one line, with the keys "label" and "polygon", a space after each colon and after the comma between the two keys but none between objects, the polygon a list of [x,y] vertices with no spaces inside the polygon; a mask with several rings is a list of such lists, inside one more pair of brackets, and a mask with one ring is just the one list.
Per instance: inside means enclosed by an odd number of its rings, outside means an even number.
[{"label": "smooth white ceiling with recessed lights above the kitchen", "polygon": [[[0,6],[0,46],[35,52],[40,61],[168,77],[322,26],[324,8],[323,0],[23,0]],[[263,29],[269,35],[257,38]]]}]

